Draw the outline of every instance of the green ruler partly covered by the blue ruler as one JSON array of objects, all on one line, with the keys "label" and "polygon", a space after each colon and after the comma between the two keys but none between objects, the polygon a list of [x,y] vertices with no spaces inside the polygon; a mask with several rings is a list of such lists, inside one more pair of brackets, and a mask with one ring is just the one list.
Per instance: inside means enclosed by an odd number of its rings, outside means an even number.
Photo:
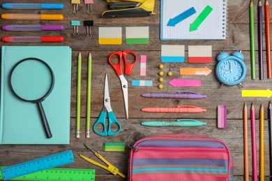
[{"label": "green ruler partly covered by the blue ruler", "polygon": [[[0,168],[4,168],[4,166],[1,166]],[[1,172],[0,180],[3,180]],[[30,173],[13,178],[11,180],[90,181],[95,180],[95,170],[83,168],[50,168],[44,171],[38,171],[36,173]]]}]

